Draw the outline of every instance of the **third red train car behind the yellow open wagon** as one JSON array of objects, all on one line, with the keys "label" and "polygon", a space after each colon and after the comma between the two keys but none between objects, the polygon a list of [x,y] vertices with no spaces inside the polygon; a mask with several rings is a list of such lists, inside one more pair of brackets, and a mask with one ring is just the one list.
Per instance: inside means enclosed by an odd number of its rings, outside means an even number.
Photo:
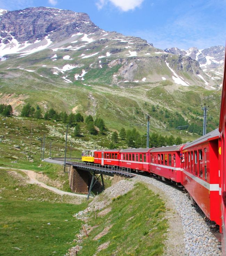
[{"label": "third red train car behind the yellow open wagon", "polygon": [[[151,150],[150,171],[161,176],[162,180],[169,179],[181,183],[180,153],[185,144],[153,148]],[[182,160],[184,161],[184,160]]]}]

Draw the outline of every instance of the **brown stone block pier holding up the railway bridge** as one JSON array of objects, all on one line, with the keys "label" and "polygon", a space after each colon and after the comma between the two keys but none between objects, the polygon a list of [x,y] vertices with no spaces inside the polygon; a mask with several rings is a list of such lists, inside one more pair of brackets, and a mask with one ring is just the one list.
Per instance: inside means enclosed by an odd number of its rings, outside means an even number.
[{"label": "brown stone block pier holding up the railway bridge", "polygon": [[71,191],[88,194],[89,176],[90,174],[88,172],[77,170],[74,166],[71,166],[68,177]]}]

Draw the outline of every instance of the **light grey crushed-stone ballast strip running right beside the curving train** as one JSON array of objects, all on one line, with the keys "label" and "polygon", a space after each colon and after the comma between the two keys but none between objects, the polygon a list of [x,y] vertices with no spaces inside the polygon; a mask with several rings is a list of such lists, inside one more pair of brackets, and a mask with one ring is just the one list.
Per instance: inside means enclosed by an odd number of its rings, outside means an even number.
[{"label": "light grey crushed-stone ballast strip running right beside the curving train", "polygon": [[182,193],[182,191],[167,183],[146,176],[137,175],[133,180],[151,184],[161,189],[170,198],[172,206],[181,218],[184,230],[184,255],[221,255],[220,242],[203,220],[204,215],[200,214],[198,206],[192,206],[186,193]]}]

